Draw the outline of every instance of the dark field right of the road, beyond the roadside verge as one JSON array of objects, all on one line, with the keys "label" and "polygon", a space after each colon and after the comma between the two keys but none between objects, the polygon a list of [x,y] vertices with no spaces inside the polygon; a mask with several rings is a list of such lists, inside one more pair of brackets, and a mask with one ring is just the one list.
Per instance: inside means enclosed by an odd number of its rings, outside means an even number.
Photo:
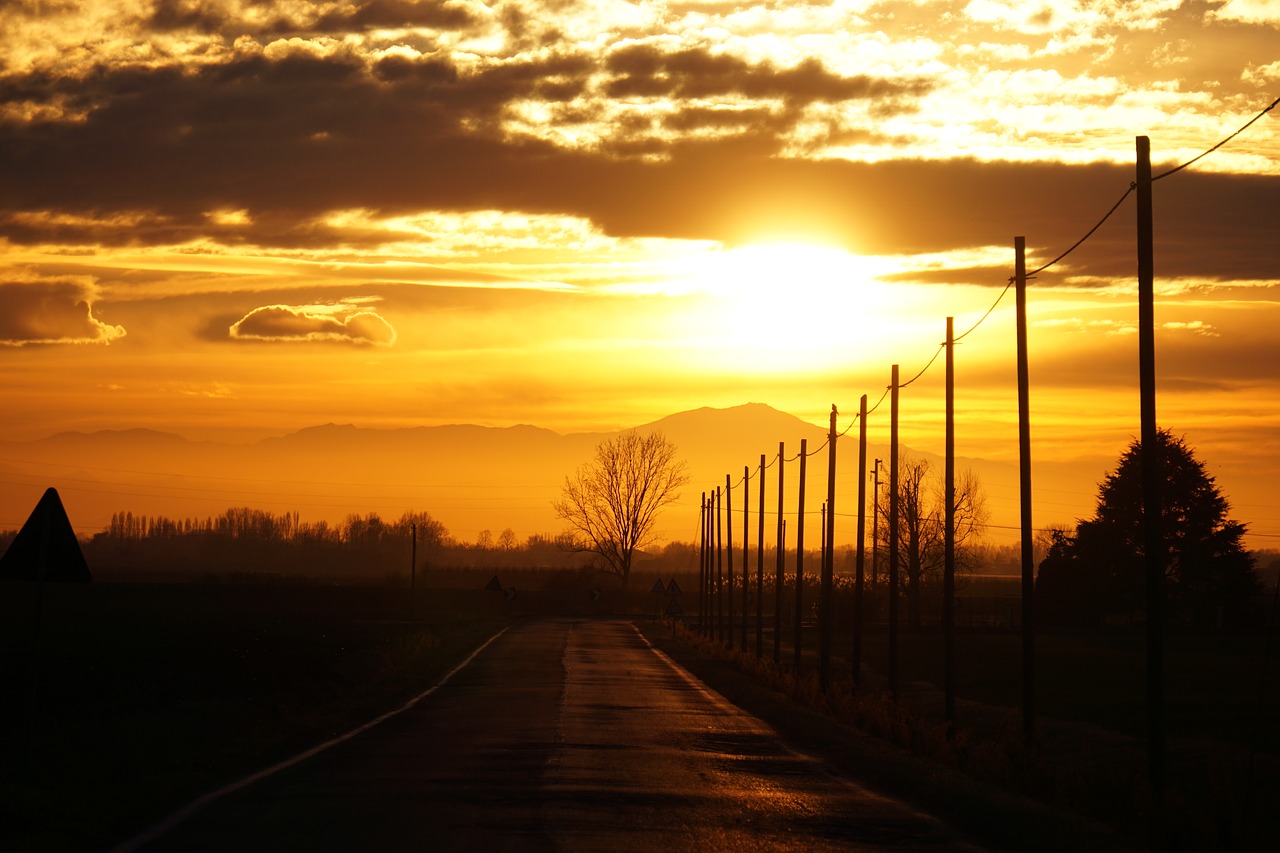
[{"label": "dark field right of the road, beyond the roadside verge", "polygon": [[[956,727],[943,716],[943,644],[934,629],[899,638],[897,699],[887,693],[888,637],[863,642],[863,685],[851,694],[851,635],[833,638],[832,688],[817,684],[817,629],[805,628],[801,669],[792,667],[791,628],[782,663],[755,660],[754,626],[741,648],[684,634],[686,644],[796,703],[956,768],[1111,827],[1126,845],[1156,849],[1271,849],[1280,806],[1280,666],[1265,633],[1171,634],[1167,638],[1166,797],[1157,813],[1148,786],[1146,639],[1140,626],[1036,638],[1036,739],[1023,740],[1021,634],[965,630],[956,638]],[[740,634],[735,637],[740,643]],[[681,660],[700,676],[698,657]],[[722,689],[712,681],[717,689]],[[741,686],[732,689],[741,690]],[[742,697],[751,699],[746,690]],[[735,699],[736,701],[736,699]],[[755,712],[768,713],[762,702]],[[788,721],[771,717],[787,730]],[[810,727],[812,727],[810,721]],[[805,733],[799,733],[801,736]],[[838,740],[838,739],[837,739]],[[842,747],[836,747],[837,751]],[[910,794],[910,785],[904,794]],[[945,806],[945,803],[942,803]],[[1010,818],[1011,820],[1011,818]],[[1034,830],[1034,827],[1032,827]],[[1153,838],[1153,835],[1156,838]]]}]

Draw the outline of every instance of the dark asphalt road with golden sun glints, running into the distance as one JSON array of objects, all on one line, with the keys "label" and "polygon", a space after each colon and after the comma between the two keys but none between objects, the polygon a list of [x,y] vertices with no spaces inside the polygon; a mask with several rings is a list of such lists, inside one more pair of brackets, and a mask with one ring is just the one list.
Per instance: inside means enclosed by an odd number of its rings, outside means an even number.
[{"label": "dark asphalt road with golden sun glints, running into the distance", "polygon": [[956,850],[626,621],[511,628],[413,707],[160,827],[151,850]]}]

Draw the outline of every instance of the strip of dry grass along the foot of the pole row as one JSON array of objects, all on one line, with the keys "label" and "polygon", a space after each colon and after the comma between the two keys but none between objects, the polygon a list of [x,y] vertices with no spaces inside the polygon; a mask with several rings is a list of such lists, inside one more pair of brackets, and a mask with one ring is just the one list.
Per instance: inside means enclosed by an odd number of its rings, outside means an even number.
[{"label": "strip of dry grass along the foot of the pole row", "polygon": [[[700,675],[726,678],[723,671],[717,675],[714,666],[699,663],[699,658],[719,661],[721,670],[727,665],[751,684],[785,697],[785,702],[772,711],[768,703],[758,704],[772,713],[769,721],[776,726],[785,725],[786,715],[803,708],[850,733],[892,744],[924,760],[928,767],[918,767],[916,772],[956,774],[950,777],[951,785],[965,784],[959,780],[963,777],[980,786],[998,786],[1033,798],[1061,816],[1110,827],[1110,833],[1103,833],[1082,825],[1084,835],[1057,849],[1076,849],[1082,843],[1197,852],[1272,849],[1270,818],[1258,820],[1260,812],[1270,811],[1260,808],[1260,795],[1254,795],[1254,820],[1245,820],[1240,772],[1245,757],[1231,744],[1207,738],[1170,739],[1170,776],[1176,784],[1170,785],[1165,808],[1157,815],[1148,785],[1144,742],[1123,731],[1039,717],[1034,738],[1028,743],[1018,708],[977,702],[960,703],[961,725],[952,731],[943,722],[941,693],[924,681],[902,685],[896,698],[870,689],[854,694],[847,680],[823,690],[812,666],[796,672],[787,663],[777,665],[768,656],[758,658],[751,651],[727,649],[682,626],[676,628],[675,639],[687,652],[681,662],[695,671],[700,667]],[[724,684],[717,689],[722,686]],[[744,699],[748,690],[741,685],[724,689],[737,690],[739,699]],[[815,725],[813,716],[806,719],[810,727]],[[836,749],[849,749],[847,742],[836,738]],[[877,756],[876,761],[884,758]],[[1256,776],[1263,783],[1256,788],[1267,798],[1276,790],[1275,756],[1262,754],[1256,765]],[[902,788],[906,794],[919,789],[910,781]],[[938,799],[946,797],[943,792]],[[984,807],[979,803],[970,807],[973,813],[959,815],[957,820],[968,820],[979,829],[1000,824],[1004,825],[1002,838],[1016,836],[1021,830],[1009,827],[1016,820],[1010,817],[1011,807],[998,798],[997,802],[998,809],[991,815],[982,816]],[[1044,815],[1034,809],[1030,815],[1024,826],[1024,841],[1032,839],[1029,843],[1046,849],[1043,845],[1051,839],[1044,829]],[[1085,836],[1087,841],[1079,840]],[[996,841],[997,847],[1004,845],[1000,838]],[[1023,849],[1023,843],[1010,849]]]}]

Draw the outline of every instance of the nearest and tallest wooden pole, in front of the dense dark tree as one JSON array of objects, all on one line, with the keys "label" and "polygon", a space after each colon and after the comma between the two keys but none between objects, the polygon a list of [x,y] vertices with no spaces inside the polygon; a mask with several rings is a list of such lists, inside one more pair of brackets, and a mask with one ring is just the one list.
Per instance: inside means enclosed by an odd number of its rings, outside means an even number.
[{"label": "nearest and tallest wooden pole, in front of the dense dark tree", "polygon": [[1165,544],[1156,425],[1156,265],[1151,140],[1138,137],[1138,384],[1142,409],[1142,528],[1147,574],[1147,716],[1151,793],[1165,794]]}]

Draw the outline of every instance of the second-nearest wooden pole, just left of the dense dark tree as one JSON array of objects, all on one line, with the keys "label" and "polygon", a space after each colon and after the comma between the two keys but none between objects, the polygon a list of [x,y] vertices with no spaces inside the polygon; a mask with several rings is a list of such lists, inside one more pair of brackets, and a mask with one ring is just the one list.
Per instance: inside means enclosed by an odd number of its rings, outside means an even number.
[{"label": "second-nearest wooden pole, just left of the dense dark tree", "polygon": [[1014,238],[1018,310],[1018,491],[1023,557],[1023,739],[1036,736],[1036,553],[1032,532],[1030,374],[1027,368],[1027,240]]}]

